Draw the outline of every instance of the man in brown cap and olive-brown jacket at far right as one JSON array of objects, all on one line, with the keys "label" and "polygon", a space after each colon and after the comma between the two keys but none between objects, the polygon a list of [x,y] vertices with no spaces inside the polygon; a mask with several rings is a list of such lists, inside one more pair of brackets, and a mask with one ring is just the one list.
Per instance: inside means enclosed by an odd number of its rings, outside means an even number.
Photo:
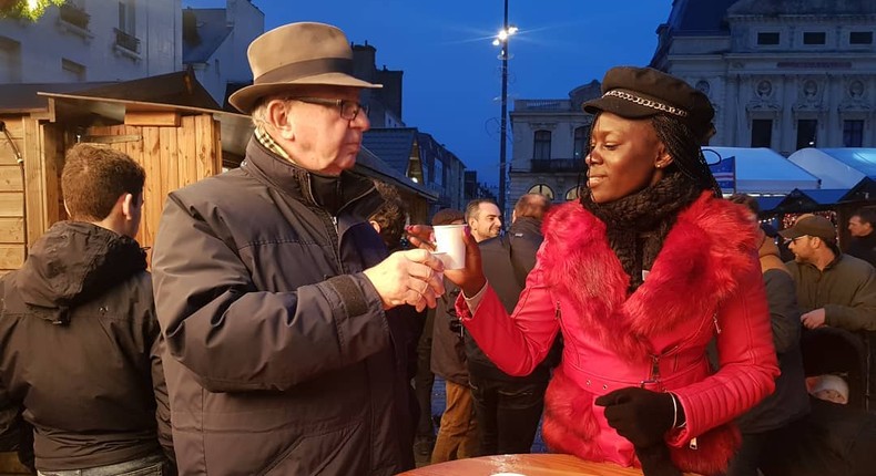
[{"label": "man in brown cap and olive-brown jacket at far right", "polygon": [[787,267],[797,284],[803,325],[876,330],[876,271],[868,262],[839,251],[831,220],[802,215],[778,234],[795,256]]}]

